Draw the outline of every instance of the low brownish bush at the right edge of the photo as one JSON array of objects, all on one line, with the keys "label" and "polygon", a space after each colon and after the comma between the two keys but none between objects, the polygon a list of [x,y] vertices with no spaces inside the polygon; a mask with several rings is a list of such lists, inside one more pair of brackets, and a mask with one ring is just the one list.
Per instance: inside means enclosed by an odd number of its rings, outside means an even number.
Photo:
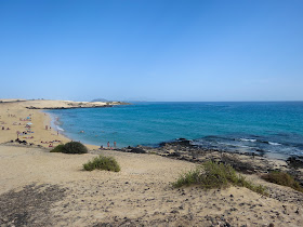
[{"label": "low brownish bush at the right edge of the photo", "polygon": [[277,185],[288,186],[293,188],[294,190],[303,192],[303,188],[300,186],[298,182],[293,179],[291,175],[284,172],[272,172],[262,176],[266,182],[275,183]]}]

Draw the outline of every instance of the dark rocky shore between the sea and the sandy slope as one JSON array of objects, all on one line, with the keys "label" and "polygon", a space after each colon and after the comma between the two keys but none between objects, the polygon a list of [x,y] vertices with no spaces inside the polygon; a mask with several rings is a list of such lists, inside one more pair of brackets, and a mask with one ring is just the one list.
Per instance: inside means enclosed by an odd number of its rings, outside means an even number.
[{"label": "dark rocky shore between the sea and the sandy slope", "polygon": [[202,163],[209,160],[230,164],[235,170],[246,174],[262,174],[284,171],[292,175],[303,186],[303,157],[292,156],[287,160],[269,159],[254,152],[230,152],[192,145],[189,139],[159,144],[159,147],[127,147],[126,152],[155,153],[177,160]]}]

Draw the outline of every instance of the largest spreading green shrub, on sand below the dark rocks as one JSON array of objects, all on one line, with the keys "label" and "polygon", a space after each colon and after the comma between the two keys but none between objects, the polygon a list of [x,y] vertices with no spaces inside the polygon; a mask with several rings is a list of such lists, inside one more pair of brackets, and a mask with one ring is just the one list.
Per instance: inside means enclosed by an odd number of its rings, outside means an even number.
[{"label": "largest spreading green shrub, on sand below the dark rocks", "polygon": [[247,187],[255,192],[266,195],[266,188],[246,181],[246,178],[236,173],[236,171],[227,164],[216,163],[212,161],[205,162],[195,170],[183,173],[176,182],[172,184],[174,187],[199,185],[205,189],[226,188],[229,185]]}]

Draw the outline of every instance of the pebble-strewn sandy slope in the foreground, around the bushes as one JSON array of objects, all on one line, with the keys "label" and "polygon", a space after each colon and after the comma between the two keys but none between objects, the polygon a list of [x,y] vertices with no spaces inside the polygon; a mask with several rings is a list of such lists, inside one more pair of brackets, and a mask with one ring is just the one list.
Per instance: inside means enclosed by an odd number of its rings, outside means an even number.
[{"label": "pebble-strewn sandy slope in the foreground, around the bushes", "polygon": [[[35,197],[43,202],[49,188],[53,188],[57,195],[62,193],[62,198],[45,204],[49,205],[44,214],[48,218],[39,217],[39,211],[31,210],[26,219],[28,224],[35,221],[37,225],[48,226],[93,226],[101,223],[114,226],[211,226],[226,223],[232,226],[267,226],[271,223],[300,226],[303,222],[302,195],[300,197],[292,189],[259,179],[273,192],[281,191],[284,201],[262,197],[247,188],[174,189],[170,183],[181,171],[195,164],[155,155],[100,152],[114,156],[121,164],[121,172],[82,171],[82,164],[96,156],[92,153],[70,156],[38,148],[0,146],[2,208],[9,202],[10,206],[14,205],[10,200],[14,193],[28,195],[26,202],[29,206]],[[32,186],[24,188],[26,185]],[[37,187],[39,189],[30,193]],[[15,192],[8,193],[11,189]],[[297,198],[297,202],[289,202],[289,197]],[[22,211],[15,208],[15,212]]]}]

